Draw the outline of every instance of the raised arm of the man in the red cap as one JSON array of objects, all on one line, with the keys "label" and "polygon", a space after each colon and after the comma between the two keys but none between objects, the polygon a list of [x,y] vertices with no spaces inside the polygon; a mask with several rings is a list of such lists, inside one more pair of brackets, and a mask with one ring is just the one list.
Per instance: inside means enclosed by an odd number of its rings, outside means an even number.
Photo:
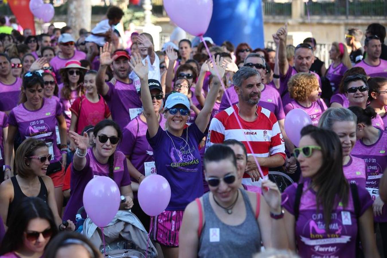
[{"label": "raised arm of the man in the red cap", "polygon": [[115,56],[111,57],[112,44],[106,42],[102,48],[99,48],[99,69],[96,77],[96,86],[98,94],[105,96],[108,94],[109,86],[105,82],[106,69],[113,63]]}]

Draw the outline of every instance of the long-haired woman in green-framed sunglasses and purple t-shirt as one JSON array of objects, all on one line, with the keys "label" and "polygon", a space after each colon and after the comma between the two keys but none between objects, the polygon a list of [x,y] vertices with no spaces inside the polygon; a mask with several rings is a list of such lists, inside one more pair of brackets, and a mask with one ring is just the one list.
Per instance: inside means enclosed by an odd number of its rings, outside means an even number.
[{"label": "long-haired woman in green-framed sunglasses and purple t-shirt", "polygon": [[[336,133],[312,125],[301,130],[294,150],[305,179],[286,188],[285,225],[290,249],[301,257],[356,257],[358,243],[365,257],[379,257],[373,236],[372,200],[352,186],[342,172],[342,147]],[[355,212],[355,203],[356,212]],[[357,208],[358,207],[358,208]]]}]

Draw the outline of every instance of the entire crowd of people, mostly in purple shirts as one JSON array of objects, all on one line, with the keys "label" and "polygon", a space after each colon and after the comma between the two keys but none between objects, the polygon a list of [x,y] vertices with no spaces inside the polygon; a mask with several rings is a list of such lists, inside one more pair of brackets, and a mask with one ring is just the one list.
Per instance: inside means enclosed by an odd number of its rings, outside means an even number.
[{"label": "entire crowd of people, mostly in purple shirts", "polygon": [[[384,26],[349,28],[325,67],[287,24],[275,49],[183,37],[154,51],[144,32],[122,48],[123,11],[106,17],[77,40],[1,30],[0,257],[102,257],[71,231],[107,176],[158,257],[387,258]],[[293,109],[312,121],[299,143]],[[152,174],[171,188],[154,219],[137,198]]]}]

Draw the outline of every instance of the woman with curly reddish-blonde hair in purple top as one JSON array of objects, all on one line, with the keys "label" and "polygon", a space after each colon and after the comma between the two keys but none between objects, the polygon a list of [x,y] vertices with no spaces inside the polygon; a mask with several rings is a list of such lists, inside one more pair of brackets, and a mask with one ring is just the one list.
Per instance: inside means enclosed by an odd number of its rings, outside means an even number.
[{"label": "woman with curly reddish-blonde hair in purple top", "polygon": [[284,106],[285,114],[295,108],[303,109],[312,119],[312,125],[317,125],[321,114],[327,109],[320,98],[319,80],[313,73],[297,73],[288,82],[292,101]]}]

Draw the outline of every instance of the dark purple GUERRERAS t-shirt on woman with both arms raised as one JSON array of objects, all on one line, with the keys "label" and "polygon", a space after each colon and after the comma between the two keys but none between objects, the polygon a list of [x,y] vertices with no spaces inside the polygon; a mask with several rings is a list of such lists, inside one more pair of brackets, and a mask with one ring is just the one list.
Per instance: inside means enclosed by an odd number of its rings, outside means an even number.
[{"label": "dark purple GUERRERAS t-shirt on woman with both arms raised", "polygon": [[168,180],[171,200],[165,210],[184,210],[188,203],[203,195],[202,160],[198,145],[207,132],[202,133],[196,123],[176,137],[159,126],[156,135],[146,137],[154,150],[157,173]]}]

